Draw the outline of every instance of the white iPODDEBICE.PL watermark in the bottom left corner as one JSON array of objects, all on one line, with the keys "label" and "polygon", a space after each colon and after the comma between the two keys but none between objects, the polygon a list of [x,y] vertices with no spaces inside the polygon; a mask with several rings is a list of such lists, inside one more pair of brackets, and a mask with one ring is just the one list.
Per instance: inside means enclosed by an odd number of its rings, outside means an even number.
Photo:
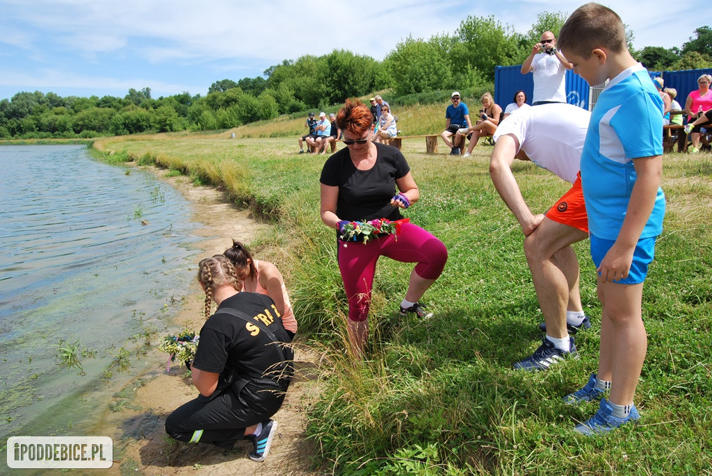
[{"label": "white iPODDEBICE.PL watermark in the bottom left corner", "polygon": [[111,467],[114,444],[108,436],[11,436],[7,465],[13,468]]}]

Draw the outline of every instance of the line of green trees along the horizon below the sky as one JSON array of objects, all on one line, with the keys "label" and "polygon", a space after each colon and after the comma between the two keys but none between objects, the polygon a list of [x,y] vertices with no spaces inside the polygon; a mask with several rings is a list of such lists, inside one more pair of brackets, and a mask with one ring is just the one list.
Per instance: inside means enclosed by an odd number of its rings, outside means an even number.
[{"label": "line of green trees along the horizon below the sky", "polygon": [[[150,88],[123,97],[61,97],[53,92],[19,92],[0,101],[0,139],[97,137],[140,132],[213,130],[237,127],[278,115],[325,109],[347,97],[391,90],[397,98],[437,90],[468,90],[490,85],[496,65],[523,63],[543,31],[558,33],[566,14],[543,12],[527,33],[494,16],[468,16],[452,34],[424,40],[406,38],[382,61],[334,50],[321,56],[283,60],[262,76],[213,83],[207,95],[184,91],[151,97]],[[632,48],[650,70],[712,67],[712,28],[701,26],[681,48]],[[390,98],[389,98],[390,100]]]}]

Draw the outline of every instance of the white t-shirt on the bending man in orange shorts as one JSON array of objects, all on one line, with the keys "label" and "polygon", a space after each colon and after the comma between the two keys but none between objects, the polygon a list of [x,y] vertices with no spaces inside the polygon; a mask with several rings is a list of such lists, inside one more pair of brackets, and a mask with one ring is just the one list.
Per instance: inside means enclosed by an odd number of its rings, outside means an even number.
[{"label": "white t-shirt on the bending man in orange shorts", "polygon": [[492,138],[497,142],[512,134],[532,162],[573,183],[590,119],[587,110],[565,103],[522,107],[501,122]]}]

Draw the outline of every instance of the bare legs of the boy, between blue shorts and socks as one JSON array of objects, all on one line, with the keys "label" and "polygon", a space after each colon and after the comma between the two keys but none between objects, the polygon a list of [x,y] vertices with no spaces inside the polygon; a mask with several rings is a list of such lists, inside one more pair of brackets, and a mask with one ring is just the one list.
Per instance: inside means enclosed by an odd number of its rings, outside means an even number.
[{"label": "bare legs of the boy, between blue shorts and socks", "polygon": [[598,280],[602,304],[598,378],[611,381],[609,400],[633,403],[648,337],[642,318],[643,283],[622,285]]}]

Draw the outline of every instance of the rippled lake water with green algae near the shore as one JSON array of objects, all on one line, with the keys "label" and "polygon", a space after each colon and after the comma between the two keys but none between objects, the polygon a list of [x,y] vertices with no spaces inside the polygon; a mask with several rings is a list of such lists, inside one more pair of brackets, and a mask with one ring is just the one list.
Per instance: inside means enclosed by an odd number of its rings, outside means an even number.
[{"label": "rippled lake water with green algae near the shore", "polygon": [[[81,434],[128,378],[101,381],[118,349],[166,334],[194,279],[189,204],[63,145],[1,146],[0,197],[0,435]],[[85,375],[58,365],[61,341],[95,352]]]}]

